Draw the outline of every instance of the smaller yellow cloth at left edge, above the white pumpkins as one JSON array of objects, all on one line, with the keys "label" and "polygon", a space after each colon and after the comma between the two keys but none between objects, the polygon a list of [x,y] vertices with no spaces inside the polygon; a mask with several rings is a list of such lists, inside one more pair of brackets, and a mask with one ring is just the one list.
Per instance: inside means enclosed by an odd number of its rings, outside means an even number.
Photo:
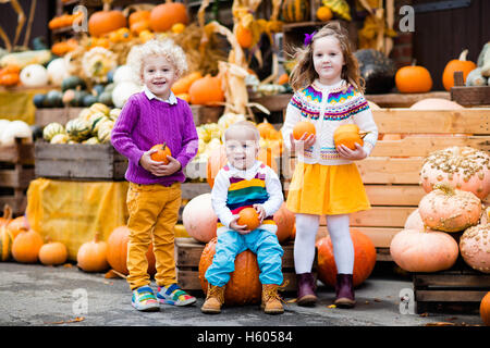
[{"label": "smaller yellow cloth at left edge, above the white pumpkins", "polygon": [[46,94],[52,88],[0,90],[0,119],[21,120],[27,124],[36,122],[36,107],[33,98],[37,94]]}]

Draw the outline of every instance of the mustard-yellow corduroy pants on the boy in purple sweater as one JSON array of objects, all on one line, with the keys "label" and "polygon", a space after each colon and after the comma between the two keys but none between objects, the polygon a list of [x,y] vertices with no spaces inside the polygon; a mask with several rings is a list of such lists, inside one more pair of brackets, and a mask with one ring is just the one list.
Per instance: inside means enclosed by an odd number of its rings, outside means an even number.
[{"label": "mustard-yellow corduroy pants on the boy in purple sweater", "polygon": [[132,290],[150,284],[146,252],[150,243],[158,286],[176,283],[174,258],[174,226],[181,207],[181,183],[162,185],[130,184],[127,210],[130,241],[127,244],[127,282]]}]

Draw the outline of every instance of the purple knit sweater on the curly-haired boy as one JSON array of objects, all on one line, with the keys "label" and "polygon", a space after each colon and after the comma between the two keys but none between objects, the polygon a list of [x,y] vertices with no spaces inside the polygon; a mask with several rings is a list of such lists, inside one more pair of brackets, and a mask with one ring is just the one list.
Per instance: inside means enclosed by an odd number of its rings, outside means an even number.
[{"label": "purple knit sweater on the curly-haired boy", "polygon": [[[197,153],[198,137],[187,102],[176,104],[151,99],[138,92],[126,101],[111,134],[115,150],[128,159],[125,178],[135,184],[171,185],[184,182],[182,172]],[[143,153],[154,145],[166,142],[182,169],[169,176],[155,176],[139,164]]]}]

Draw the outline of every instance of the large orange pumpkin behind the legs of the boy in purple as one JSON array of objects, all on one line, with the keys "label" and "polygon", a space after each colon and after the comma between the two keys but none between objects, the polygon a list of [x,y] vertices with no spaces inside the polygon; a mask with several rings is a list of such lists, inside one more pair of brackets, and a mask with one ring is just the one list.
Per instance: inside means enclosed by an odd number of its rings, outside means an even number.
[{"label": "large orange pumpkin behind the legs of the boy in purple", "polygon": [[[109,265],[124,274],[127,275],[127,243],[130,241],[130,228],[127,226],[115,227],[109,238],[107,239],[107,262]],[[148,247],[148,252],[146,253],[146,260],[148,261],[148,274],[154,275],[157,273],[155,268],[155,254],[154,246],[150,244]]]}]

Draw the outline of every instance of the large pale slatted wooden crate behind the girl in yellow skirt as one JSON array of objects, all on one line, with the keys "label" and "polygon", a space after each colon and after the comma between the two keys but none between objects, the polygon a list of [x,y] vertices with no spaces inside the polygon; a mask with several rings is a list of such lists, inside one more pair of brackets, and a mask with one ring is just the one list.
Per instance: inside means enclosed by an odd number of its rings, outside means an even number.
[{"label": "large pale slatted wooden crate behind the girl in yellow skirt", "polygon": [[[419,185],[419,172],[428,153],[450,146],[490,151],[490,108],[382,109],[372,110],[372,114],[379,133],[407,135],[402,140],[379,140],[369,158],[356,162],[372,209],[353,213],[351,226],[369,236],[378,251],[382,251],[390,247],[391,239],[425,195]],[[285,195],[294,165],[295,158],[283,159],[281,174]],[[319,236],[322,236],[327,226],[324,217],[320,221]],[[378,252],[378,260],[391,260],[387,252]]]}]

